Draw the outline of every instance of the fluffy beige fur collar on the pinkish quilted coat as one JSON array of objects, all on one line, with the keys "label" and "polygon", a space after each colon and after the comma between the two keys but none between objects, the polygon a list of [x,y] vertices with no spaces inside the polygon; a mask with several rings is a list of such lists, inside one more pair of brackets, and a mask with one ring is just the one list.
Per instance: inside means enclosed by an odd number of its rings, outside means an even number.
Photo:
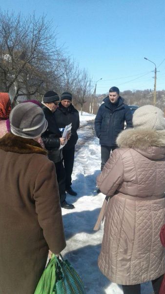
[{"label": "fluffy beige fur collar on the pinkish quilted coat", "polygon": [[165,130],[148,128],[127,129],[116,140],[118,147],[146,149],[150,146],[165,147]]}]

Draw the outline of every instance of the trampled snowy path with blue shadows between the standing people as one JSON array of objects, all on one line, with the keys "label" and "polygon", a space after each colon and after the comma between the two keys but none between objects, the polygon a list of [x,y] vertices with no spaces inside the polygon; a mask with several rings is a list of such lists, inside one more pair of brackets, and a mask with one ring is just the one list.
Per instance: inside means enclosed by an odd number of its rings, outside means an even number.
[{"label": "trampled snowy path with blue shadows between the standing people", "polygon": [[[94,120],[95,115],[80,115],[81,125]],[[67,201],[75,209],[62,208],[66,248],[62,251],[84,282],[86,294],[123,294],[122,286],[111,283],[97,266],[103,238],[103,224],[99,231],[93,231],[103,204],[104,195],[96,193],[96,177],[100,173],[101,150],[99,140],[88,124],[78,131],[79,140],[87,141],[75,153],[72,187],[78,196],[67,194]],[[83,142],[83,141],[82,141]],[[78,142],[79,144],[79,142]],[[152,294],[151,283],[142,285],[142,294]]]}]

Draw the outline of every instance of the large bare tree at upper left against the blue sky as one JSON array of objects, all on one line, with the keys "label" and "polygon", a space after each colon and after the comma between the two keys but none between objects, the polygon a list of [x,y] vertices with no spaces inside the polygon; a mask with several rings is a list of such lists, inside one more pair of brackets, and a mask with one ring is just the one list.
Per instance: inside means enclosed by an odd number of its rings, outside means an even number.
[{"label": "large bare tree at upper left against the blue sky", "polygon": [[62,49],[45,17],[0,12],[0,88],[19,96],[43,93],[59,83]]}]

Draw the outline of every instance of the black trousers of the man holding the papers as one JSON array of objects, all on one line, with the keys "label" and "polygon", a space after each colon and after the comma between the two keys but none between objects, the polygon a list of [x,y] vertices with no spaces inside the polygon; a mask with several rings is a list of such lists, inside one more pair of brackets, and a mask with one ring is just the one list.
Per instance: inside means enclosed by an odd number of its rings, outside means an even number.
[{"label": "black trousers of the man holding the papers", "polygon": [[57,174],[57,181],[59,185],[59,194],[60,194],[60,203],[65,201],[66,199],[66,193],[65,193],[65,170],[63,167],[62,160],[59,162],[55,162],[56,167],[56,174]]}]

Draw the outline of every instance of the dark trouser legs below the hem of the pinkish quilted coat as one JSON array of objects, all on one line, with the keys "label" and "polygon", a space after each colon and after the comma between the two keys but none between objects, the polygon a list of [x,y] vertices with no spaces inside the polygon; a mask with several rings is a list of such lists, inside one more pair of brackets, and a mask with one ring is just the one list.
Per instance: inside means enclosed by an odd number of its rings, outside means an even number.
[{"label": "dark trouser legs below the hem of the pinkish quilted coat", "polygon": [[[155,294],[159,294],[164,275],[152,281],[152,287]],[[141,294],[141,285],[122,285],[124,294]]]}]

